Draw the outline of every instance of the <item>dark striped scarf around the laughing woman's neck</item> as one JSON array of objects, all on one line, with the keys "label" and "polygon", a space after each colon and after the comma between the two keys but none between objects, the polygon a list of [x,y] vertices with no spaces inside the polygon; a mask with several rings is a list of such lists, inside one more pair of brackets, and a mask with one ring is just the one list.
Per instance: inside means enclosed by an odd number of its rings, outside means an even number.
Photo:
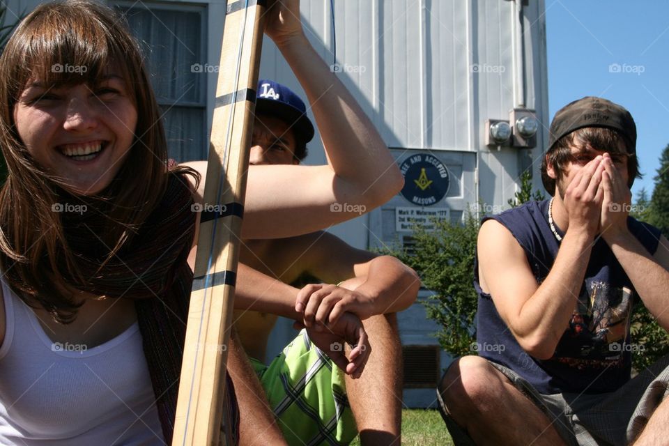
[{"label": "dark striped scarf around the laughing woman's neck", "polygon": [[[162,201],[118,255],[95,274],[100,252],[109,248],[91,232],[100,233],[103,219],[86,213],[66,227],[86,277],[86,291],[112,298],[133,298],[144,343],[144,355],[163,436],[171,444],[176,413],[178,380],[184,351],[188,303],[193,272],[187,264],[195,231],[192,192],[185,176],[169,174]],[[90,217],[93,215],[93,217]],[[93,240],[91,240],[93,239]],[[105,249],[106,248],[106,249]],[[236,444],[239,413],[232,382],[226,380],[224,429],[228,445]]]}]

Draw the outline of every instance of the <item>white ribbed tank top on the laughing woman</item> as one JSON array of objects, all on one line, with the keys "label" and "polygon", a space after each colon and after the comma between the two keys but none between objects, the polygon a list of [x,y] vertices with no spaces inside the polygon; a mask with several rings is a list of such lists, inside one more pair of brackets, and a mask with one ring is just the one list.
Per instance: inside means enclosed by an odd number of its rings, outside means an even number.
[{"label": "white ribbed tank top on the laughing woman", "polygon": [[86,351],[54,344],[36,314],[0,282],[0,444],[165,444],[137,322]]}]

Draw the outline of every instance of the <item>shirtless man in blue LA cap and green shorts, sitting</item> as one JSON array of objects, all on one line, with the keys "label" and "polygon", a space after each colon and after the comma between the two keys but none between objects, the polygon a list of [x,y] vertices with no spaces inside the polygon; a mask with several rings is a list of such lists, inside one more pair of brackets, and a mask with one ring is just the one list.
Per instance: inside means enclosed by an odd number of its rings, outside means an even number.
[{"label": "shirtless man in blue LA cap and green shorts, sitting", "polygon": [[[299,164],[314,136],[304,103],[275,82],[261,81],[257,91],[251,164]],[[245,351],[257,358],[252,359],[254,369],[289,444],[320,444],[325,438],[348,443],[360,431],[362,444],[399,445],[402,362],[395,313],[416,298],[420,279],[415,272],[393,257],[355,249],[323,231],[244,240],[240,261],[275,279],[271,291],[265,282],[257,282],[256,302],[245,309],[236,305],[235,320]],[[299,294],[287,285],[305,275],[325,284],[307,285]],[[306,332],[269,366],[261,362],[278,316],[327,334],[319,325],[334,323],[343,312],[360,317],[369,335],[372,351],[364,373],[349,375],[333,367],[336,357],[330,360],[322,353],[336,356],[341,344],[319,352]],[[302,375],[314,368],[318,371],[300,385]],[[289,376],[290,383],[281,376]],[[314,438],[320,441],[311,443]]]}]

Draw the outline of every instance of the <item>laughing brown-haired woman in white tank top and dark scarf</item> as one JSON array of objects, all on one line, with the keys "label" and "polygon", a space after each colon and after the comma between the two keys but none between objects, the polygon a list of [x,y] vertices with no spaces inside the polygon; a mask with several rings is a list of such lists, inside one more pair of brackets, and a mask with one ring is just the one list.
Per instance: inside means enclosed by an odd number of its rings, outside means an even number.
[{"label": "laughing brown-haired woman in white tank top and dark scarf", "polygon": [[[303,35],[299,2],[276,3],[266,32],[312,102],[329,164],[251,169],[247,238],[357,216],[330,204],[370,209],[402,183]],[[171,441],[198,218],[191,204],[206,162],[168,162],[139,47],[121,22],[96,3],[43,4],[0,59],[9,171],[0,190],[2,444]],[[243,358],[233,348],[230,360]]]}]

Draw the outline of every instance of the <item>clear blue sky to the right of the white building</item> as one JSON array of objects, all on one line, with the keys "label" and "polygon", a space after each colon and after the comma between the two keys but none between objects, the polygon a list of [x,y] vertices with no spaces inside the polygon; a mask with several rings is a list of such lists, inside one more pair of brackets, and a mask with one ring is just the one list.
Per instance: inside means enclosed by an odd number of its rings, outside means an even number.
[{"label": "clear blue sky to the right of the white building", "polygon": [[669,1],[545,1],[551,119],[586,95],[626,107],[645,174],[632,191],[650,193],[669,144]]}]

